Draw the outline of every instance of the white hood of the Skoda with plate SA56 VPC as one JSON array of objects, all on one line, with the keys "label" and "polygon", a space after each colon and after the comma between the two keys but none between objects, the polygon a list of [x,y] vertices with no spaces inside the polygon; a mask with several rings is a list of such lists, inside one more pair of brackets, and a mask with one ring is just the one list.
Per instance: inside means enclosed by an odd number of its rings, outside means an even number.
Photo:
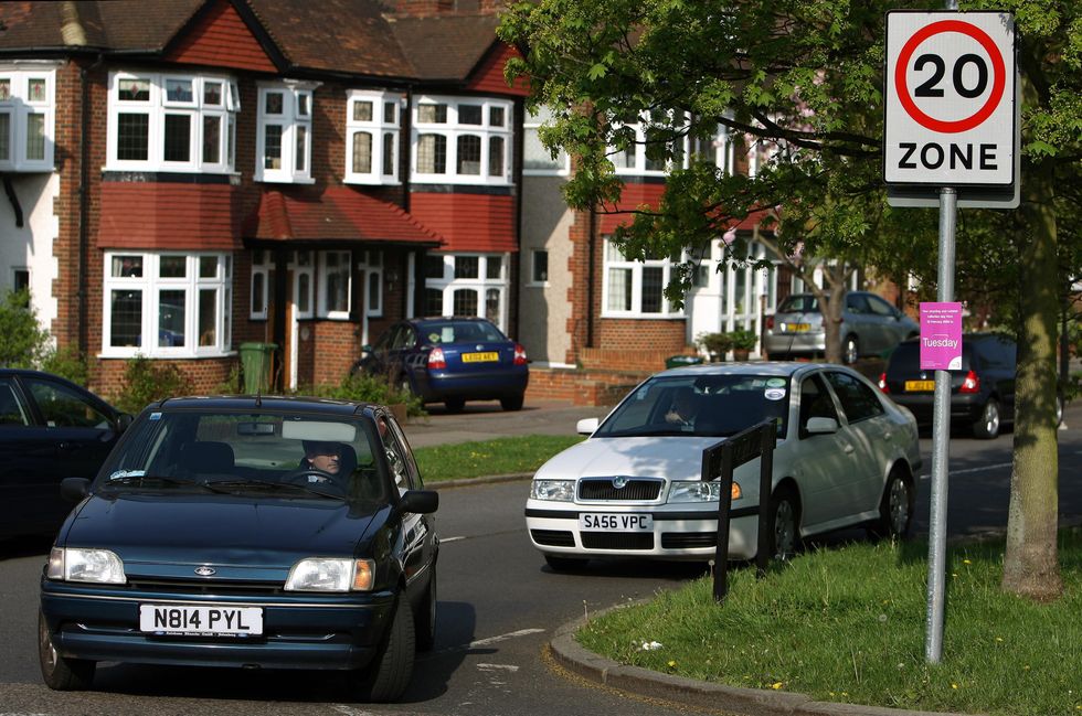
[{"label": "white hood of the Skoda with plate SA56 VPC", "polygon": [[699,480],[703,449],[717,437],[590,438],[555,456],[537,472],[541,480],[617,474]]}]

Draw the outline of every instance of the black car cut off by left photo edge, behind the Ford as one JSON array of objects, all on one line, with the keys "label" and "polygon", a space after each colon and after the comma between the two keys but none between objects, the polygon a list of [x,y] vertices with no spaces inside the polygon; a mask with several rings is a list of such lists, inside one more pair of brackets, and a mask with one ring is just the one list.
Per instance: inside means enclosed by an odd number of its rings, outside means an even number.
[{"label": "black car cut off by left photo edge, behind the Ford", "polygon": [[64,478],[93,478],[131,416],[71,381],[0,368],[0,537],[52,534]]}]

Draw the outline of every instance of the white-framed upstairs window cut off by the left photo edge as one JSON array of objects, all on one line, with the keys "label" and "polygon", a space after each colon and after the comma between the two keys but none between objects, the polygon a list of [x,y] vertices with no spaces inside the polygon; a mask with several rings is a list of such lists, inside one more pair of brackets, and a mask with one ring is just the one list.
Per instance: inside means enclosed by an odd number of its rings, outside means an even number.
[{"label": "white-framed upstairs window cut off by the left photo edge", "polygon": [[[56,70],[55,64],[32,63],[3,65],[0,79],[8,82],[9,94],[0,99],[0,114],[9,116],[8,157],[0,159],[0,171],[41,172],[54,169],[56,124]],[[31,81],[45,83],[45,96],[30,96]],[[30,117],[42,117],[43,151],[41,159],[28,156]]]}]

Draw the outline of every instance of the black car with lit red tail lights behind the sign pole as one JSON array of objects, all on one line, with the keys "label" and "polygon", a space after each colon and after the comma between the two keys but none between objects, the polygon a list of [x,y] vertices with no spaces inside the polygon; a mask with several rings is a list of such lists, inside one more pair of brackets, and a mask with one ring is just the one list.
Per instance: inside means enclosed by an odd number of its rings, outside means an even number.
[{"label": "black car with lit red tail lights behind the sign pole", "polygon": [[[962,336],[962,367],[951,371],[951,423],[967,425],[976,438],[991,439],[1015,419],[1015,341],[995,333]],[[894,349],[879,387],[932,425],[935,371],[921,370],[920,339]]]}]

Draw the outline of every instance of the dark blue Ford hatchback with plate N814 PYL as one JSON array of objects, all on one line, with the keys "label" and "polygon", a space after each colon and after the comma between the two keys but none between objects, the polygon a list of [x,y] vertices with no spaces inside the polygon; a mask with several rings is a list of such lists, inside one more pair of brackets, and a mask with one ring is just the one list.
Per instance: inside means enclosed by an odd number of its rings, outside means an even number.
[{"label": "dark blue Ford hatchback with plate N814 PYL", "polygon": [[61,489],[78,505],[41,579],[52,688],[102,661],[336,669],[395,701],[433,646],[438,494],[382,406],[167,399]]}]

